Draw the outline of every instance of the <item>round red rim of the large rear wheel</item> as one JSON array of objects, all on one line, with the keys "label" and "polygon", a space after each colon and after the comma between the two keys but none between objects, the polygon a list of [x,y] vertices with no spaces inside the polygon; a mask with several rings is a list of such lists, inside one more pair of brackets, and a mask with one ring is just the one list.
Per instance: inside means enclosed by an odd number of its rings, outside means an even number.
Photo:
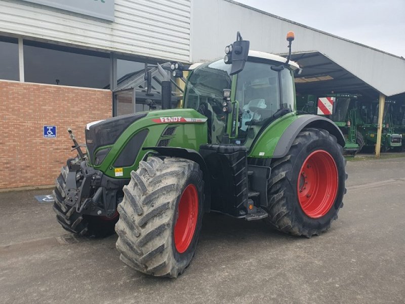
[{"label": "round red rim of the large rear wheel", "polygon": [[338,169],[325,150],[313,151],[302,164],[297,181],[298,201],[311,218],[327,214],[338,192]]}]

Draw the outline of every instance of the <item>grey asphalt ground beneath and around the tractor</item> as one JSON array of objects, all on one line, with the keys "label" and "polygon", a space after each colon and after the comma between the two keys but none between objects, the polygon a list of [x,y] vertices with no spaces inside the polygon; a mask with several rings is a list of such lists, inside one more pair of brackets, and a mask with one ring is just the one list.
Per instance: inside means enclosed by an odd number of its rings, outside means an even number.
[{"label": "grey asphalt ground beneath and around the tractor", "polygon": [[311,239],[208,214],[177,279],[122,263],[117,236],[75,239],[47,190],[0,193],[0,303],[405,303],[405,158],[347,163],[339,219]]}]

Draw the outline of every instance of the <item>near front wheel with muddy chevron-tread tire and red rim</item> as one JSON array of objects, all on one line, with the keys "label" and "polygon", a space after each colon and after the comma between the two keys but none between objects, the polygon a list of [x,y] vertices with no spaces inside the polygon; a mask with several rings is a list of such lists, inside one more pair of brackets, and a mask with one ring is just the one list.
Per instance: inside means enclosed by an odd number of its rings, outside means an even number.
[{"label": "near front wheel with muddy chevron-tread tire and red rim", "polygon": [[176,278],[195,253],[204,203],[197,163],[167,157],[141,161],[118,205],[120,259],[152,276]]}]

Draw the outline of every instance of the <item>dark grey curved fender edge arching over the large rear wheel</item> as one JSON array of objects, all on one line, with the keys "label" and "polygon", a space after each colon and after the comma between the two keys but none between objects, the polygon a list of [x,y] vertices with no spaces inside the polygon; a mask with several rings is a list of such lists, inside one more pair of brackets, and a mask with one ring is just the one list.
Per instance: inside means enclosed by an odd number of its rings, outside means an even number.
[{"label": "dark grey curved fender edge arching over the large rear wheel", "polygon": [[305,114],[300,115],[288,128],[282,133],[274,149],[273,158],[285,157],[293,144],[294,139],[297,137],[304,128],[318,128],[327,130],[334,135],[338,140],[338,143],[344,147],[345,137],[342,131],[336,124],[328,118]]}]

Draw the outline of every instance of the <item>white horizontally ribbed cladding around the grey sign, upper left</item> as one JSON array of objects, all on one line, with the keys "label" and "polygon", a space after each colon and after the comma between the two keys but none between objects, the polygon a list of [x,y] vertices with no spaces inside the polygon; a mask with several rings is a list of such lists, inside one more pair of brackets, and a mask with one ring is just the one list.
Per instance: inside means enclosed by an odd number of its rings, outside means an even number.
[{"label": "white horizontally ribbed cladding around the grey sign, upper left", "polygon": [[108,22],[0,0],[0,34],[188,62],[190,10],[190,0],[115,0],[115,21]]}]

